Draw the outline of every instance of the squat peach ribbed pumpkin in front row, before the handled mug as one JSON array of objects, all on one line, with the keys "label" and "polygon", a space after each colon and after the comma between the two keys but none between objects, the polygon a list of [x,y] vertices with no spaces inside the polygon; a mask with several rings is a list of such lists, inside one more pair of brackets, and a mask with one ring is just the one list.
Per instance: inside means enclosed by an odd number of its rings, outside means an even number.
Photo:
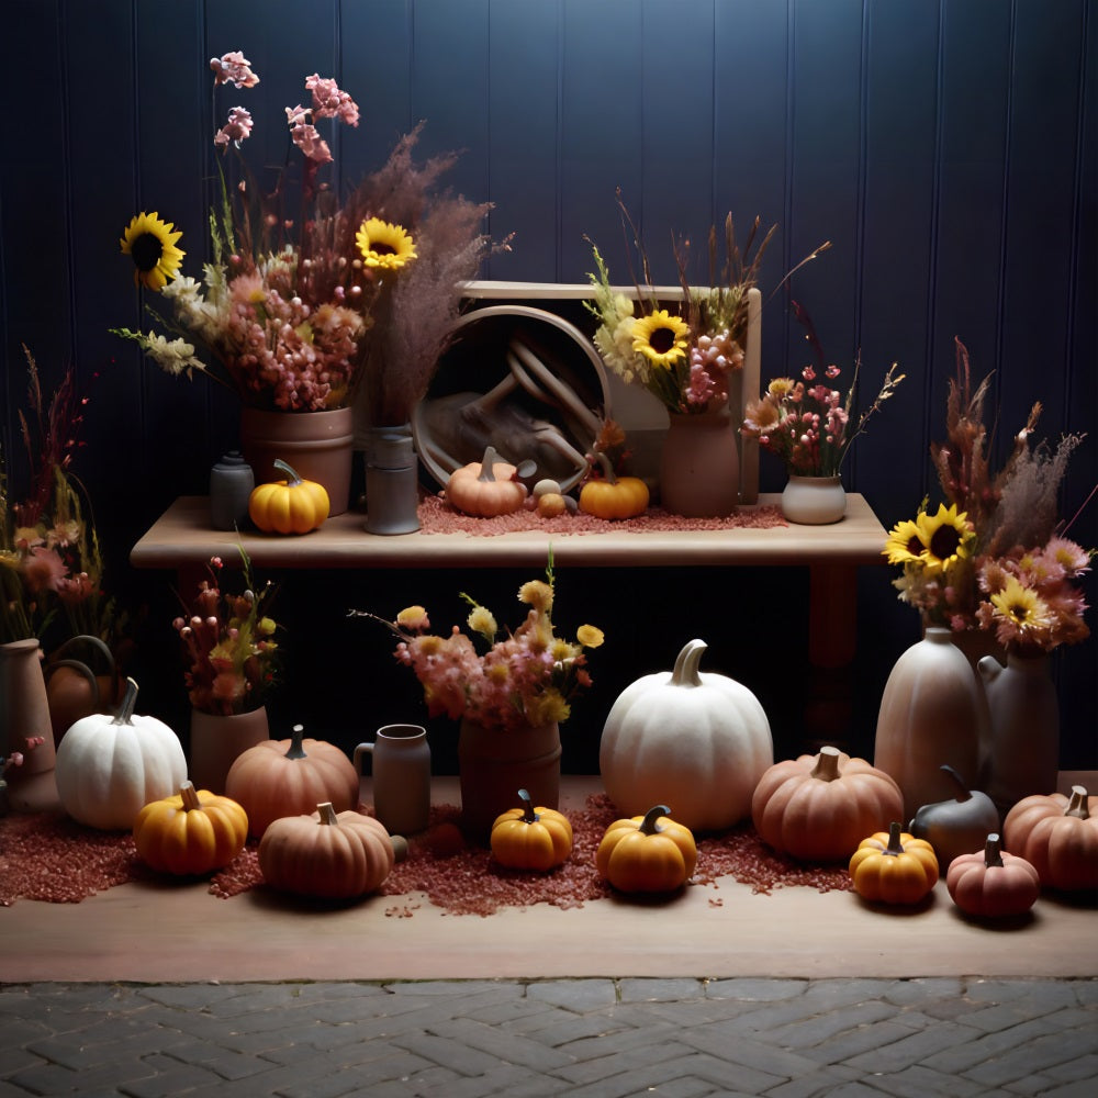
[{"label": "squat peach ribbed pumpkin in front row, before the handled mug", "polygon": [[350,899],[384,884],[395,855],[389,832],[372,816],[336,813],[330,802],[311,816],[283,816],[259,841],[259,869],[272,888]]}]

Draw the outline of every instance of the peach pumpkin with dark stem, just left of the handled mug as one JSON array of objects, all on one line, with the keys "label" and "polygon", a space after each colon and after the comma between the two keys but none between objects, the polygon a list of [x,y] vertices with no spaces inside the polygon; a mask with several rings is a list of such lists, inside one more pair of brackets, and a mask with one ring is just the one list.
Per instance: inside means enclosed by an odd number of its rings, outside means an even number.
[{"label": "peach pumpkin with dark stem, just left of the handled mug", "polygon": [[358,805],[358,773],[333,743],[303,739],[301,725],[289,740],[265,740],[229,768],[225,795],[244,806],[251,834],[261,836],[283,816],[301,816],[324,800],[336,811]]}]

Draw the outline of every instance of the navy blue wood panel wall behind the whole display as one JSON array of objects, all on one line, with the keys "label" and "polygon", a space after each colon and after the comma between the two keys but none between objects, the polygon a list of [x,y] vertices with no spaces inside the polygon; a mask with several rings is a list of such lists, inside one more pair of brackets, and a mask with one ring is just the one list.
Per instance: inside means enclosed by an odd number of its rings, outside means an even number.
[{"label": "navy blue wood panel wall behind the whole display", "polygon": [[[154,372],[108,327],[141,322],[117,254],[138,210],[184,231],[198,273],[216,170],[208,63],[238,48],[262,78],[247,93],[260,167],[283,163],[282,110],[313,71],[362,107],[334,142],[343,180],[419,120],[424,155],[462,149],[451,183],[494,203],[496,236],[515,233],[489,277],[582,281],[590,236],[624,280],[618,188],[669,281],[672,235],[703,240],[729,211],[741,238],[757,214],[780,226],[764,285],[831,240],[792,292],[838,362],[861,349],[866,394],[893,360],[907,373],[848,486],[886,526],[933,491],[928,445],[960,337],[977,376],[995,371],[999,458],[1034,401],[1043,435],[1093,433],[1065,485],[1071,513],[1098,482],[1096,27],[1093,0],[8,0],[12,475],[23,343],[47,383],[72,361],[92,397],[81,472],[123,562],[176,495],[204,490],[232,440],[222,393]],[[764,370],[796,369],[802,348],[780,294]],[[763,472],[781,484],[765,456]],[[1098,503],[1073,533],[1098,545]],[[917,629],[886,574],[862,591],[884,669]],[[1098,764],[1096,650],[1057,657],[1065,764]]]}]

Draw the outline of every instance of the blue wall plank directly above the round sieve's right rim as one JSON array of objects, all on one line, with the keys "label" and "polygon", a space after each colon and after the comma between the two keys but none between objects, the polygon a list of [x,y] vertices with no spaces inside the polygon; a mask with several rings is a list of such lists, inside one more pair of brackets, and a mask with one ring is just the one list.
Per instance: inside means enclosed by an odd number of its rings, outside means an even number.
[{"label": "blue wall plank directly above the round sieve's right rim", "polygon": [[563,0],[560,278],[586,281],[590,236],[628,282],[615,192],[638,217],[641,195],[641,16],[636,0]]}]

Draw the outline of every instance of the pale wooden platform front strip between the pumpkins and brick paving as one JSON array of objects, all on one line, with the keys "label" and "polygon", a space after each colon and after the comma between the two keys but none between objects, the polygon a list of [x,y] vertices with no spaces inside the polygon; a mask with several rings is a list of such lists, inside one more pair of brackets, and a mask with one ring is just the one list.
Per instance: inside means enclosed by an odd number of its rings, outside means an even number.
[{"label": "pale wooden platform front strip between the pumpkins and brick paving", "polygon": [[[436,799],[452,803],[455,784],[437,780]],[[563,807],[597,788],[568,778]],[[995,928],[963,918],[942,883],[912,912],[803,887],[753,895],[731,879],[660,905],[607,899],[488,918],[416,901],[411,918],[385,915],[400,906],[392,896],[318,911],[262,889],[217,899],[204,884],[128,884],[74,905],[20,900],[0,909],[0,982],[1098,976],[1093,905],[1042,897],[1024,925]]]}]

